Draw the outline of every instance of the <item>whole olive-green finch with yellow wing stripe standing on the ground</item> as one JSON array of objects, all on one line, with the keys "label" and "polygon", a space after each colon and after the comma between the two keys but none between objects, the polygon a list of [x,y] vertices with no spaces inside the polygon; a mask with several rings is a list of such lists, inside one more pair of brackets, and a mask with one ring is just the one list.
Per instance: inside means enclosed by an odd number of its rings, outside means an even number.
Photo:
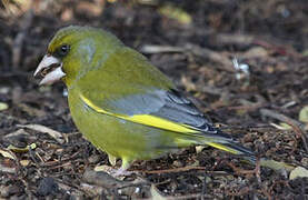
[{"label": "whole olive-green finch with yellow wing stripe standing on the ground", "polygon": [[50,41],[34,76],[40,84],[62,80],[72,119],[106,151],[118,174],[135,160],[159,158],[178,148],[208,144],[251,162],[254,153],[205,118],[161,71],[113,34],[70,26]]}]

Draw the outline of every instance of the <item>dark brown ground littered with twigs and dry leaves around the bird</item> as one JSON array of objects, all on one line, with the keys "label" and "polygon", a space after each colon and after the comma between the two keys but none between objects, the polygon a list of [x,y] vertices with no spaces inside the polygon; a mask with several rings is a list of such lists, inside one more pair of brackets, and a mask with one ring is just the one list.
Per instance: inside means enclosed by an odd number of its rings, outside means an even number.
[{"label": "dark brown ground littered with twigs and dry leaves around the bird", "polygon": [[[308,199],[307,21],[306,0],[2,0],[0,197]],[[68,24],[111,31],[215,124],[279,162],[255,167],[191,147],[137,161],[125,180],[98,172],[107,154],[76,129],[64,86],[39,87],[32,77],[52,34]]]}]

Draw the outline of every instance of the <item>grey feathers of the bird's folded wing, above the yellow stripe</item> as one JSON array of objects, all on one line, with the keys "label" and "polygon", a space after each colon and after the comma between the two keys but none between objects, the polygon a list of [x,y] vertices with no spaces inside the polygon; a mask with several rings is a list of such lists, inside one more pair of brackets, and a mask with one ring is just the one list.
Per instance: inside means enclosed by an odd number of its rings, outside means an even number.
[{"label": "grey feathers of the bird's folded wing, above the yellow stripe", "polygon": [[209,120],[177,90],[153,90],[143,94],[128,96],[120,100],[109,101],[113,112],[151,114],[170,121],[191,126],[202,132],[217,133]]}]

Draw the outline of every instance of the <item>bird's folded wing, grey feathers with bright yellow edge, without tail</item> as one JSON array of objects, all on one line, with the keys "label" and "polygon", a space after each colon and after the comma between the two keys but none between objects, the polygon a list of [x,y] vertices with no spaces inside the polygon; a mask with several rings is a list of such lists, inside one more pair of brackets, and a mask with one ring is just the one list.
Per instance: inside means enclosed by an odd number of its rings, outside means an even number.
[{"label": "bird's folded wing, grey feathers with bright yellow edge, without tail", "polygon": [[[92,92],[91,92],[92,94]],[[136,123],[182,133],[217,133],[205,116],[176,90],[151,90],[100,103],[90,96],[81,100],[97,112],[118,117]]]}]

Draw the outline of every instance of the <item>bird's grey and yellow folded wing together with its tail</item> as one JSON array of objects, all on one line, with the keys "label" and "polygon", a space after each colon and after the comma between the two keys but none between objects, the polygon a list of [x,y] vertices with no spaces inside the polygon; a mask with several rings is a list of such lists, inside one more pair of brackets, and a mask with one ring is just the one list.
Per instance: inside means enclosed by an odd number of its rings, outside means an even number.
[{"label": "bird's grey and yellow folded wing together with its tail", "polygon": [[131,94],[103,103],[105,107],[86,96],[80,94],[80,98],[85,106],[96,112],[180,134],[201,137],[206,139],[202,140],[203,143],[235,154],[247,154],[248,160],[255,161],[250,150],[238,146],[229,134],[213,128],[192,102],[176,90]]}]

